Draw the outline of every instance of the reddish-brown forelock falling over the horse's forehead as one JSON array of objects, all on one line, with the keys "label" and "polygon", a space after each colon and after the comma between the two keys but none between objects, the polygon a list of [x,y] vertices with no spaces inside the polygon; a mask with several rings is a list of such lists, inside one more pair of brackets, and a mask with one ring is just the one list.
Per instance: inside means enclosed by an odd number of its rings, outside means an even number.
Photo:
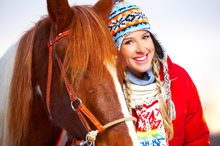
[{"label": "reddish-brown forelock falling over the horse's forehead", "polygon": [[63,64],[72,85],[78,87],[88,70],[102,77],[107,73],[106,67],[115,69],[117,49],[107,25],[91,7],[72,9],[73,22]]}]

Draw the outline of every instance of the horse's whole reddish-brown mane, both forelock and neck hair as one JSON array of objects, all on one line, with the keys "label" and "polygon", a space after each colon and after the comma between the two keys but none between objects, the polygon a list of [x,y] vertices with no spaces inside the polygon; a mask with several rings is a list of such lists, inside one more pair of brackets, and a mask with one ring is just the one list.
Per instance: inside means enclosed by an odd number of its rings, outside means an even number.
[{"label": "horse's whole reddish-brown mane, both forelock and neck hair", "polygon": [[[117,48],[106,23],[90,6],[73,6],[72,10],[73,22],[63,60],[63,71],[71,83],[78,87],[87,71],[101,78],[107,73],[106,68],[115,69]],[[24,145],[28,136],[33,100],[33,47],[36,32],[44,20],[38,21],[19,42],[7,109],[8,146]]]}]

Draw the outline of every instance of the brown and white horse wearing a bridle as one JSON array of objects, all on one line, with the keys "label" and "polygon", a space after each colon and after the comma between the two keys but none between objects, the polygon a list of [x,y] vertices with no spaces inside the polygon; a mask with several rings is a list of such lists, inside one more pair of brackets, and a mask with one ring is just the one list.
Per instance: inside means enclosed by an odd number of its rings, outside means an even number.
[{"label": "brown and white horse wearing a bridle", "polygon": [[139,145],[126,63],[107,27],[112,6],[47,0],[48,15],[1,58],[1,146]]}]

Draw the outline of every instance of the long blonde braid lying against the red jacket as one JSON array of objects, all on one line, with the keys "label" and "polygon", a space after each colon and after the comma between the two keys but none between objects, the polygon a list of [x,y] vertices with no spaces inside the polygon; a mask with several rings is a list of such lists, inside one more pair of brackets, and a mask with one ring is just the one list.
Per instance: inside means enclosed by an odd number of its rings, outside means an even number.
[{"label": "long blonde braid lying against the red jacket", "polygon": [[161,108],[161,115],[162,115],[164,127],[167,131],[166,138],[169,138],[169,140],[171,140],[173,138],[173,125],[172,125],[172,122],[169,122],[168,120],[168,114],[167,114],[168,107],[162,95],[162,85],[161,85],[160,74],[159,74],[159,69],[158,69],[159,61],[156,55],[154,55],[152,62],[153,62],[153,73],[156,79],[156,85],[159,89],[159,102],[160,102],[160,108]]}]

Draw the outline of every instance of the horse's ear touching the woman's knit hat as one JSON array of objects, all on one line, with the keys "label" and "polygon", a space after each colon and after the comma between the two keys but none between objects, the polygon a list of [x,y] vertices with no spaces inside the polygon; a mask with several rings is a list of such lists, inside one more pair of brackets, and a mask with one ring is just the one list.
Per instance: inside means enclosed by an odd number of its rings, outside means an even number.
[{"label": "horse's ear touching the woman's knit hat", "polygon": [[114,0],[99,0],[93,9],[100,15],[106,24],[108,24],[109,14],[111,13]]}]

